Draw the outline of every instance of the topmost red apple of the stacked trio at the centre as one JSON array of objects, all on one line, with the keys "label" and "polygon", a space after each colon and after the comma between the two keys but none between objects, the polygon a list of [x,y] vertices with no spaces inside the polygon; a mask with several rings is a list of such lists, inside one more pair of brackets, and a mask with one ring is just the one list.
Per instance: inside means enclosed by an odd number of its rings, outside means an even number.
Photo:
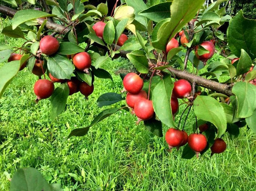
[{"label": "topmost red apple of the stacked trio at the centre", "polygon": [[123,80],[124,91],[126,90],[131,94],[138,94],[143,88],[143,84],[143,80],[135,73],[127,74]]}]

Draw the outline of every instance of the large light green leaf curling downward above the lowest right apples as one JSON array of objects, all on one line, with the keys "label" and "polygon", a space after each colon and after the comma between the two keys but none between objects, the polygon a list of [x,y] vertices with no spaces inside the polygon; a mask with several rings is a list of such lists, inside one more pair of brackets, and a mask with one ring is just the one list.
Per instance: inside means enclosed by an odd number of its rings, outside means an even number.
[{"label": "large light green leaf curling downward above the lowest right apples", "polygon": [[217,138],[220,138],[227,128],[227,120],[222,105],[212,97],[197,96],[194,101],[195,115],[202,120],[209,121],[218,130]]}]

